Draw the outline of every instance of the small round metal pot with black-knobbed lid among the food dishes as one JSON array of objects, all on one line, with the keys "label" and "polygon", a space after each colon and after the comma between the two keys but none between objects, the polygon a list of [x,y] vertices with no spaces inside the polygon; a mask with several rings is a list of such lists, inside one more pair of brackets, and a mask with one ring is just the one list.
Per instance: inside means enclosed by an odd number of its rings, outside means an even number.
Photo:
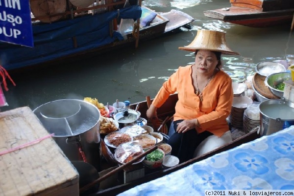
[{"label": "small round metal pot with black-knobbed lid among the food dishes", "polygon": [[113,114],[114,120],[119,123],[121,129],[128,125],[137,124],[139,117],[140,114],[137,111],[129,108],[117,109]]}]

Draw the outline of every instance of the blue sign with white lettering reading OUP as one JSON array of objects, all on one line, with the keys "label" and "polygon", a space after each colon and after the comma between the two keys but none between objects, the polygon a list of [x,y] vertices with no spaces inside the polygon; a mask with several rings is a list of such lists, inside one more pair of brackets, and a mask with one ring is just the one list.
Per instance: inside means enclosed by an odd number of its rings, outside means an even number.
[{"label": "blue sign with white lettering reading OUP", "polygon": [[0,0],[0,41],[34,46],[29,0]]}]

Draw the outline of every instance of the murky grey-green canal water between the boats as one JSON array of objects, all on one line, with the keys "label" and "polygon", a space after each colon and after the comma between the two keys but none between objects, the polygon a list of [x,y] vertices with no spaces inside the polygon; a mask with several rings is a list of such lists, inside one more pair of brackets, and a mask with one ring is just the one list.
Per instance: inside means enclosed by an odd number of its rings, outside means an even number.
[{"label": "murky grey-green canal water between the boats", "polygon": [[61,64],[51,64],[26,71],[13,71],[8,91],[4,91],[9,106],[1,111],[28,106],[35,109],[59,99],[97,98],[112,104],[129,100],[131,103],[153,98],[162,84],[180,66],[192,64],[194,55],[178,50],[188,45],[198,29],[226,32],[230,48],[240,55],[222,55],[223,69],[234,82],[243,82],[254,74],[255,65],[266,60],[287,60],[294,55],[294,33],[291,26],[252,28],[213,20],[203,11],[229,7],[229,0],[144,0],[143,5],[157,11],[181,10],[195,22],[189,28],[161,36],[148,42],[106,54],[81,56]]}]

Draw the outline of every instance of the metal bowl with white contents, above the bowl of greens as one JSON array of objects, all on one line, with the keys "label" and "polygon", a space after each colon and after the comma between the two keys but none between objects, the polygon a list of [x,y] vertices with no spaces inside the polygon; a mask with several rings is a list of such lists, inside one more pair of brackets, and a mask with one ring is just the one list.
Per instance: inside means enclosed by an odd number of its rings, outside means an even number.
[{"label": "metal bowl with white contents, above the bowl of greens", "polygon": [[267,77],[273,73],[285,72],[286,68],[284,65],[276,62],[263,61],[255,66],[255,70],[258,74]]}]

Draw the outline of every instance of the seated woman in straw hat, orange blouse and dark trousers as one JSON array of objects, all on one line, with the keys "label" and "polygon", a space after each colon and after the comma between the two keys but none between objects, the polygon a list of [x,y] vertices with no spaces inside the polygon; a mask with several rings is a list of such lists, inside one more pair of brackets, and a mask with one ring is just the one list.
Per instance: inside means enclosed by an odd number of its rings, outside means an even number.
[{"label": "seated woman in straw hat, orange blouse and dark trousers", "polygon": [[[221,54],[233,52],[223,32],[198,30],[196,38],[181,50],[195,52],[195,64],[179,67],[155,96],[147,117],[157,117],[170,94],[178,92],[173,115],[175,132],[168,143],[180,162],[193,158],[197,146],[211,135],[230,134],[226,118],[233,102],[232,80],[221,70]],[[211,146],[211,145],[210,145]],[[215,147],[214,147],[215,148]]]}]

